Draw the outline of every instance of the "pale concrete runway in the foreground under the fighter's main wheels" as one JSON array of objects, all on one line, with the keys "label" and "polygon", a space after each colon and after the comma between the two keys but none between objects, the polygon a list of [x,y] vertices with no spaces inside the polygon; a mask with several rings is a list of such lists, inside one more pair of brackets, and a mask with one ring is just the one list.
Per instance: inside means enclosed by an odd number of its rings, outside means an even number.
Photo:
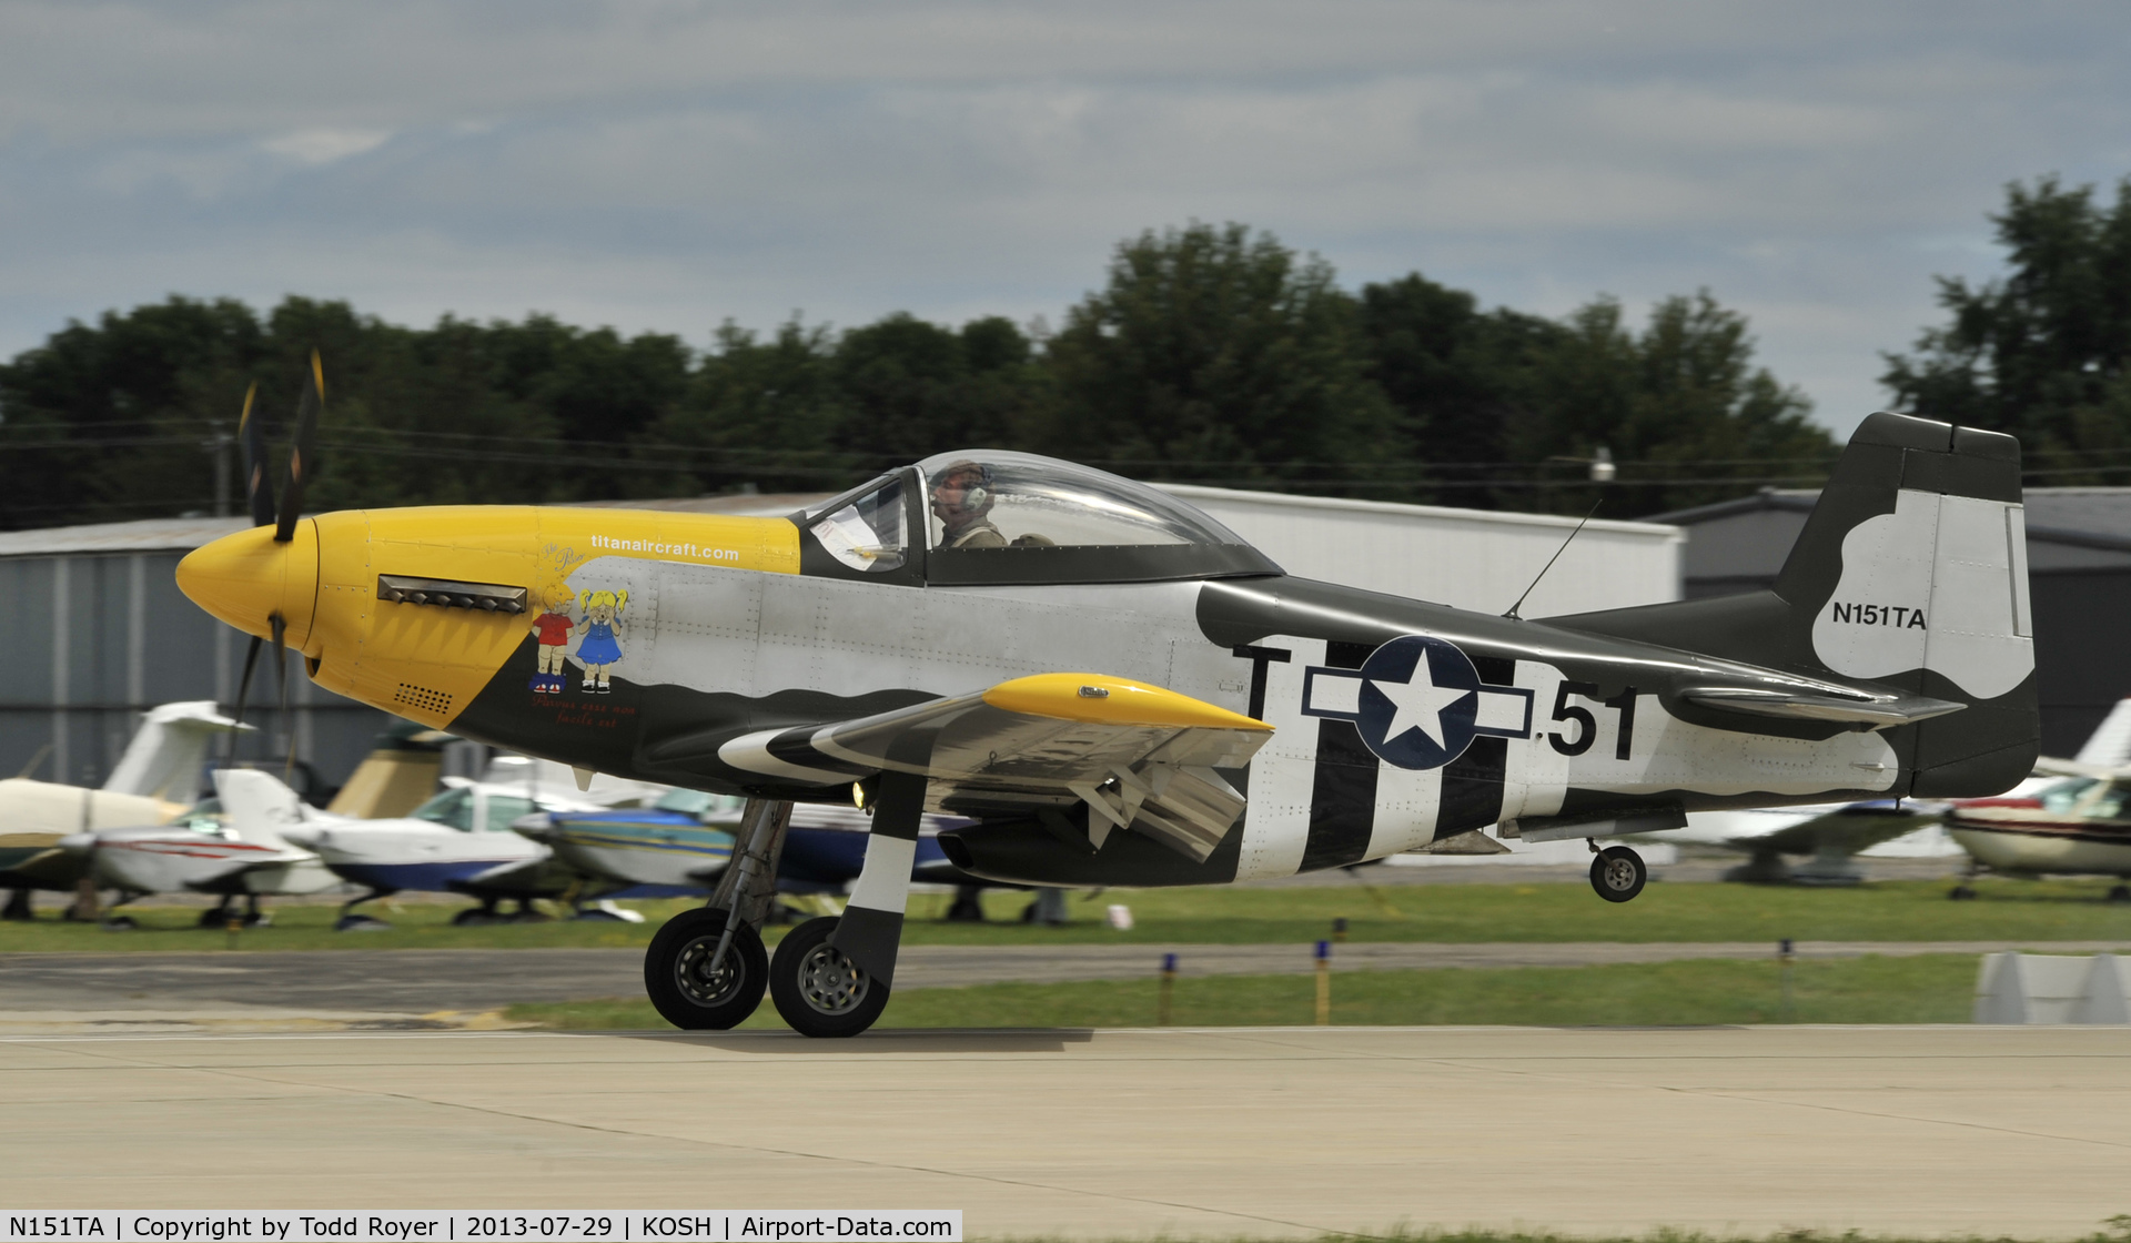
[{"label": "pale concrete runway in the foreground under the fighter's main wheels", "polygon": [[0,1200],[963,1209],[974,1239],[2091,1237],[2122,1028],[0,1040]]}]

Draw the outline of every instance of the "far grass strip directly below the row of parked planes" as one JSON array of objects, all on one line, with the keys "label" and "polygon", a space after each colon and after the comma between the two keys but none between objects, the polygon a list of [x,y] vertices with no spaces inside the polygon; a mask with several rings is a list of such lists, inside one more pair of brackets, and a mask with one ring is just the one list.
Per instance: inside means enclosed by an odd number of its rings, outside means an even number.
[{"label": "far grass strip directly below the row of parked planes", "polygon": [[[1366,874],[1366,872],[1364,872]],[[1600,902],[1583,883],[1400,885],[1360,883],[1283,889],[1112,889],[1072,900],[1074,923],[1029,927],[1010,919],[1023,893],[991,893],[993,923],[940,923],[944,895],[910,904],[910,945],[1149,945],[1308,942],[1334,919],[1351,940],[2131,940],[2131,906],[2101,902],[2110,881],[1984,881],[1975,902],[1948,902],[1948,881],[1899,881],[1854,889],[1756,885],[1652,885],[1628,904]],[[1132,906],[1136,927],[1102,923],[1110,902]],[[0,923],[6,951],[222,949],[224,932],[194,927],[192,908],[136,908],[139,932],[62,923],[58,902],[34,923]],[[639,947],[690,902],[637,902],[650,919],[622,923],[511,923],[452,927],[450,902],[407,902],[379,915],[390,932],[332,932],[332,906],[275,906],[275,927],[245,932],[243,949],[473,949]],[[371,906],[375,910],[375,906]],[[767,940],[776,940],[769,930]]]}]

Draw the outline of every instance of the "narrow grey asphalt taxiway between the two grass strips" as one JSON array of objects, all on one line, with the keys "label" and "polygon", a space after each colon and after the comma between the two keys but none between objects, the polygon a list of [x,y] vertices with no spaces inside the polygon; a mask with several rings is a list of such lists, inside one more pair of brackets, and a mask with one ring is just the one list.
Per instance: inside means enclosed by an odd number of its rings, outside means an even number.
[{"label": "narrow grey asphalt taxiway between the two grass strips", "polygon": [[[1799,942],[1801,957],[1867,953],[2131,951],[2131,942],[1873,940]],[[1155,974],[1306,974],[1308,945],[912,945],[897,987],[1063,983]],[[1336,970],[1592,966],[1688,957],[1773,957],[1767,942],[1357,942],[1336,945]],[[251,1006],[318,1013],[428,1015],[514,1002],[644,994],[639,949],[373,949],[315,953],[9,953],[0,955],[0,1030],[9,1015],[192,1013]]]}]

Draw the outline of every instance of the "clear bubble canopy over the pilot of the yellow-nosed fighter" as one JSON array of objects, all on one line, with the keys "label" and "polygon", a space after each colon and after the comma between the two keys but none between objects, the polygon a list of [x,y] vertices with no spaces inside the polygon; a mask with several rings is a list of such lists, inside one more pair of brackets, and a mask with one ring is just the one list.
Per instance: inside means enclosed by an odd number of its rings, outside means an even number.
[{"label": "clear bubble canopy over the pilot of the yellow-nosed fighter", "polygon": [[[1234,531],[1159,488],[1008,450],[933,454],[797,520],[844,569],[929,584],[1281,574]],[[912,539],[914,531],[923,537]]]}]

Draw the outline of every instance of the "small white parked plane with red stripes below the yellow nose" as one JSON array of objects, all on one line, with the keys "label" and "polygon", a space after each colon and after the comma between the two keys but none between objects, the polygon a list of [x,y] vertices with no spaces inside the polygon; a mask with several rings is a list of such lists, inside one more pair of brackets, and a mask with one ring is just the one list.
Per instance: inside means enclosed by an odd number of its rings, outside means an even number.
[{"label": "small white parked plane with red stripes below the yellow nose", "polygon": [[[283,836],[320,817],[296,791],[264,772],[215,770],[222,814],[188,814],[168,825],[96,829],[68,834],[60,851],[79,859],[79,870],[98,889],[117,889],[124,906],[149,893],[217,893],[222,902],[200,913],[202,927],[222,927],[245,902],[243,923],[266,923],[260,898],[271,893],[318,893],[339,885],[318,855],[292,846]],[[111,917],[113,925],[132,925]]]}]

